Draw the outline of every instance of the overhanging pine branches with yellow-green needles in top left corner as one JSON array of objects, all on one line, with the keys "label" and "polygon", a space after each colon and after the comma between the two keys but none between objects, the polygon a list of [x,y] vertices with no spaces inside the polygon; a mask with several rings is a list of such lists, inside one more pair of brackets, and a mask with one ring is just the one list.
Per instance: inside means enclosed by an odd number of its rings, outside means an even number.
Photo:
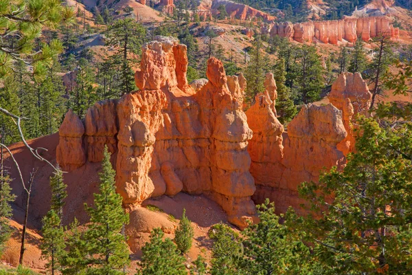
[{"label": "overhanging pine branches with yellow-green needles in top left corner", "polygon": [[36,78],[41,78],[62,47],[58,39],[37,48],[35,41],[45,25],[49,29],[73,21],[73,10],[55,0],[3,1],[0,3],[0,29],[4,43],[0,48],[0,76],[16,72],[19,62],[32,65]]}]

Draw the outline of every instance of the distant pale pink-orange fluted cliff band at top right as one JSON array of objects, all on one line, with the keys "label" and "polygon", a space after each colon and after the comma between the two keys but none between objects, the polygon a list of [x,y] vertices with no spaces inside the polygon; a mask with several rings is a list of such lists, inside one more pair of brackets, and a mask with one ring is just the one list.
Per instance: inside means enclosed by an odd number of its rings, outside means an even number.
[{"label": "distant pale pink-orange fluted cliff band at top right", "polygon": [[265,26],[262,32],[282,36],[299,43],[321,42],[338,45],[347,41],[354,43],[361,38],[368,42],[379,35],[399,38],[399,28],[394,28],[389,17],[345,18],[334,21],[308,21],[304,23],[273,23],[270,30]]}]

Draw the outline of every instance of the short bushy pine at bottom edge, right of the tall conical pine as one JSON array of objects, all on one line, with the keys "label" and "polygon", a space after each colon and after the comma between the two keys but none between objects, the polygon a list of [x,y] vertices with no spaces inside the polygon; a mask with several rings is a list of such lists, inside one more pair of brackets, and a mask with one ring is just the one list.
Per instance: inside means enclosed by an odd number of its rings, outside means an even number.
[{"label": "short bushy pine at bottom edge, right of the tall conical pine", "polygon": [[185,258],[180,255],[176,245],[169,238],[163,241],[164,233],[155,228],[150,234],[150,243],[141,249],[141,275],[187,275]]}]

